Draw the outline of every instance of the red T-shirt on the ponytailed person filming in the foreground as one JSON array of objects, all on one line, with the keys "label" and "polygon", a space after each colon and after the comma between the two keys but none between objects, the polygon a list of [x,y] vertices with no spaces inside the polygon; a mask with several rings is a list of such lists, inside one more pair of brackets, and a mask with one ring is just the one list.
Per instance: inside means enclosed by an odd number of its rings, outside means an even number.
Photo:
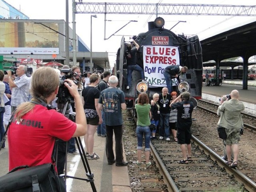
[{"label": "red T-shirt on the ponytailed person filming in the foreground", "polygon": [[9,127],[9,170],[52,162],[55,137],[68,141],[75,131],[76,123],[55,110],[36,105],[21,122],[14,119]]}]

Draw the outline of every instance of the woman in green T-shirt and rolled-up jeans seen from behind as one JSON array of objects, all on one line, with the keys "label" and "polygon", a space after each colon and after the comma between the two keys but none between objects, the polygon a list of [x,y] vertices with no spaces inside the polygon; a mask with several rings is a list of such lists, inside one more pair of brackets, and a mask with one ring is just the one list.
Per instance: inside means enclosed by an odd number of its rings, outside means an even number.
[{"label": "woman in green T-shirt and rolled-up jeans seen from behind", "polygon": [[138,97],[138,103],[135,104],[135,109],[137,112],[137,128],[136,134],[138,139],[137,153],[138,161],[137,165],[141,164],[141,153],[142,153],[142,142],[143,135],[145,137],[145,152],[146,152],[146,166],[150,166],[151,162],[149,161],[150,156],[150,104],[148,104],[148,96],[146,93],[141,93]]}]

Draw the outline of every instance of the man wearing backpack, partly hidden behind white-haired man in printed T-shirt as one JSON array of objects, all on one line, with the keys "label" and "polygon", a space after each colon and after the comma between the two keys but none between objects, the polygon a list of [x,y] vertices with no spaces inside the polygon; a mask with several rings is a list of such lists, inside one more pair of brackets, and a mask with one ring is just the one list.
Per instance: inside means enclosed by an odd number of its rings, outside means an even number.
[{"label": "man wearing backpack, partly hidden behind white-haired man in printed T-shirt", "polygon": [[[96,86],[100,92],[108,88],[108,78],[110,77],[110,72],[109,71],[104,71],[103,72],[103,79],[99,82],[99,84]],[[102,124],[98,125],[97,127],[97,135],[106,137],[106,124],[104,122],[104,110],[101,110],[102,114]]]}]

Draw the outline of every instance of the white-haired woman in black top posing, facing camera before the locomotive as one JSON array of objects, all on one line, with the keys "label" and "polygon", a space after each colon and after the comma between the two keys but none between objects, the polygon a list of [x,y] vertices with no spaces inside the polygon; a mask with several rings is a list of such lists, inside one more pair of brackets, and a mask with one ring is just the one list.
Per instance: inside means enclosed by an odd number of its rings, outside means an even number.
[{"label": "white-haired woman in black top posing, facing camera before the locomotive", "polygon": [[[159,94],[155,93],[153,95],[154,105],[151,106],[151,114],[152,114],[151,124],[155,124],[156,127],[158,126],[159,114],[160,114],[160,106],[158,105],[158,100],[159,100]],[[152,139],[155,139],[155,138],[156,138],[156,129],[152,131]]]}]

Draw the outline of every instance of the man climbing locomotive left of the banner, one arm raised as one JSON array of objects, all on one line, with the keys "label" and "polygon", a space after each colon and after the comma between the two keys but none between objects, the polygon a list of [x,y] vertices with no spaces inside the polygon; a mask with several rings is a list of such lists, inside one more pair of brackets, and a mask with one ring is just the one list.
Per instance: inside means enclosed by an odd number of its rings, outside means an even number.
[{"label": "man climbing locomotive left of the banner, one arm raised", "polygon": [[138,71],[141,74],[141,78],[145,79],[143,69],[136,64],[136,52],[140,48],[140,46],[133,40],[134,47],[132,48],[132,44],[127,45],[128,51],[125,52],[126,63],[127,63],[127,87],[126,89],[130,89],[131,81],[132,81],[132,72]]}]

